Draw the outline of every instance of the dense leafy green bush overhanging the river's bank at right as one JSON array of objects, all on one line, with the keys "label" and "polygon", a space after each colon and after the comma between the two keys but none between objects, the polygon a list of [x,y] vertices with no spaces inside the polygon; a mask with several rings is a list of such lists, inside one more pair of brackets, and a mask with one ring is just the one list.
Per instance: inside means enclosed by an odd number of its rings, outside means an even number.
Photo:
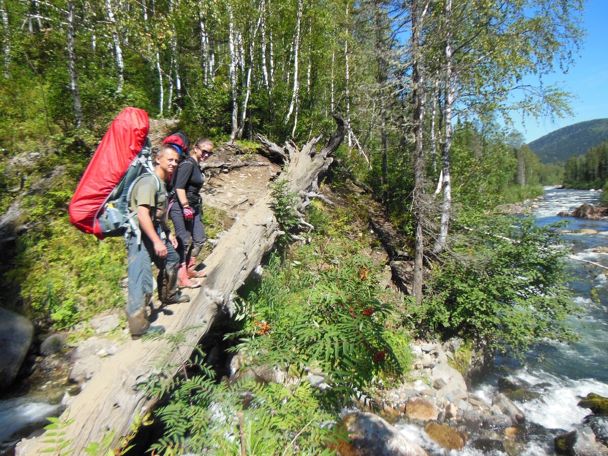
[{"label": "dense leafy green bush overhanging the river's bank at right", "polygon": [[419,327],[516,353],[544,338],[575,339],[558,235],[531,219],[472,222],[461,221],[474,232],[455,244],[457,255],[432,270],[423,305],[413,311]]}]

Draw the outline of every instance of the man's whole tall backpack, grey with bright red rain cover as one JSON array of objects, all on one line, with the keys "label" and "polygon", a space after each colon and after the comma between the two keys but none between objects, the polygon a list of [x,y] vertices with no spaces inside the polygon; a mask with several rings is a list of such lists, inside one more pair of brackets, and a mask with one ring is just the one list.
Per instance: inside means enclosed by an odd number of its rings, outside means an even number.
[{"label": "man's whole tall backpack, grey with bright red rain cover", "polygon": [[[110,125],[78,182],[69,206],[70,221],[95,237],[138,233],[130,212],[131,190],[143,174],[154,173],[150,121],[143,109],[126,108]],[[160,180],[157,193],[161,189]]]}]

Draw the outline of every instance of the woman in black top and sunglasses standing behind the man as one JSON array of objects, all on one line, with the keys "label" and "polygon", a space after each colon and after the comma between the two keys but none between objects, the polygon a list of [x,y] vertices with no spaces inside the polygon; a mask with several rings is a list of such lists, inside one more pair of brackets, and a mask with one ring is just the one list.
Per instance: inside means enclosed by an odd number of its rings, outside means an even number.
[{"label": "woman in black top and sunglasses standing behind the man", "polygon": [[[178,239],[180,266],[178,270],[178,286],[196,288],[199,282],[190,280],[191,277],[205,277],[204,271],[193,269],[196,257],[201,252],[207,240],[205,227],[202,224],[201,188],[205,181],[201,173],[200,163],[212,154],[213,142],[207,138],[196,141],[190,150],[190,156],[179,162],[175,181],[175,199],[171,204],[169,216],[175,227],[175,237]],[[192,244],[190,242],[192,241]]]}]

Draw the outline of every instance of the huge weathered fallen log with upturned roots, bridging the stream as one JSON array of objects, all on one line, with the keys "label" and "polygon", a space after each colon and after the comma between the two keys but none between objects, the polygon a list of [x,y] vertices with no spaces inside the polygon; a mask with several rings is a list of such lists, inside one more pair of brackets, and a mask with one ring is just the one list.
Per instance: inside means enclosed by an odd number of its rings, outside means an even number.
[{"label": "huge weathered fallen log with upturned roots, bridging the stream", "polygon": [[[289,192],[318,194],[319,175],[333,162],[331,154],[344,139],[346,131],[344,120],[334,117],[337,131],[318,153],[315,149],[320,136],[306,143],[302,150],[292,142],[286,144],[289,166],[278,179],[288,180]],[[84,454],[89,443],[101,442],[108,432],[114,433],[112,444],[116,446],[119,438],[130,432],[131,423],[153,409],[158,398],[148,396],[139,387],[158,373],[152,366],[161,361],[165,367],[176,366],[165,371],[168,378],[176,374],[179,365],[188,360],[192,347],[207,334],[216,317],[233,312],[233,290],[243,285],[280,234],[271,200],[271,192],[266,193],[219,239],[205,260],[207,278],[202,291],[189,291],[190,303],[169,306],[171,314],[159,315],[154,323],[165,326],[168,334],[184,334],[182,344],[171,348],[165,339],[129,340],[114,356],[102,362],[71,407],[60,417],[64,423],[73,420],[61,429],[65,432],[63,441],[69,442],[62,452],[72,449],[73,454]],[[31,456],[49,451],[55,445],[43,442],[54,438],[46,432],[40,437],[22,440],[16,447],[16,455]]]}]

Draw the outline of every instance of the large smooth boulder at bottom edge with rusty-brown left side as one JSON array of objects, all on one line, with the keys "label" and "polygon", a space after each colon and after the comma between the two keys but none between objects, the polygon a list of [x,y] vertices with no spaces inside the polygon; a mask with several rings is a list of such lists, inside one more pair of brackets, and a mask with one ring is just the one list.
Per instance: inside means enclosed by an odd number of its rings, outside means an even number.
[{"label": "large smooth boulder at bottom edge with rusty-brown left side", "polygon": [[395,427],[377,415],[358,412],[345,416],[349,441],[340,441],[339,454],[352,456],[428,456]]}]

